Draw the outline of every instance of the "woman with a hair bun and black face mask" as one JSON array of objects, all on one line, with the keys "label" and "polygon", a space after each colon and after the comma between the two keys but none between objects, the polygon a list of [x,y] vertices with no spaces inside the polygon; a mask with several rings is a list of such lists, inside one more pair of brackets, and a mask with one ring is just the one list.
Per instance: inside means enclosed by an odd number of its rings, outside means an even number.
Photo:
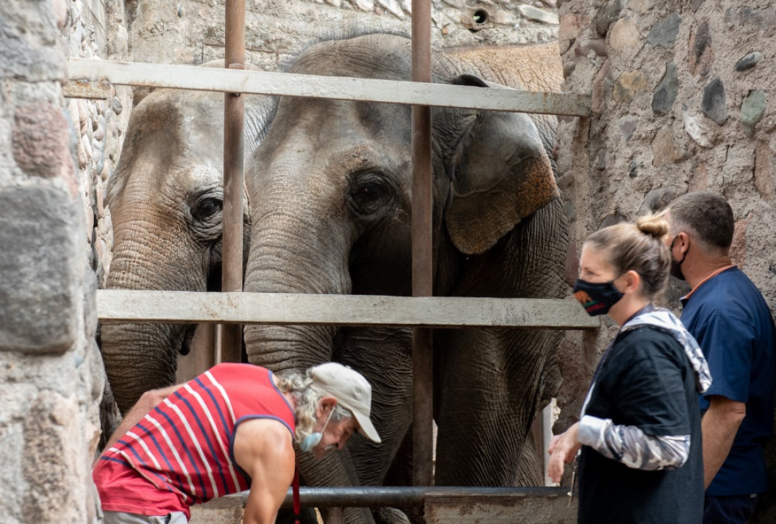
[{"label": "woman with a hair bun and black face mask", "polygon": [[598,362],[580,422],[549,446],[555,482],[577,457],[579,524],[702,521],[697,394],[711,377],[695,338],[653,305],[670,269],[667,232],[666,220],[650,215],[605,227],[582,245],[574,296],[620,329]]}]

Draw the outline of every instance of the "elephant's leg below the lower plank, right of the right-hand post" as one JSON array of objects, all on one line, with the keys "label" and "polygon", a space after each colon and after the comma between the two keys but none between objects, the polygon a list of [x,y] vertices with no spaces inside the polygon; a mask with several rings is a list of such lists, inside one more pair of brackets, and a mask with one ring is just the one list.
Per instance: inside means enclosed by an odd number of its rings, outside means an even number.
[{"label": "elephant's leg below the lower plank, right of the right-hand post", "polygon": [[514,484],[542,401],[551,332],[464,329],[437,338],[436,483]]}]

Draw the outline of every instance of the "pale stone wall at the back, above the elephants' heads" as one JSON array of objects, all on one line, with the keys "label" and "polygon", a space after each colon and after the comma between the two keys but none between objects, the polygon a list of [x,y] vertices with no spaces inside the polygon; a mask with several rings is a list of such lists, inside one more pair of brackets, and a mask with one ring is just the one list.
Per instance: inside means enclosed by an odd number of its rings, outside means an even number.
[{"label": "pale stone wall at the back, above the elephants' heads", "polygon": [[[226,2],[127,1],[134,61],[200,64],[223,57]],[[354,30],[411,27],[411,0],[248,0],[246,58],[275,71],[312,40]],[[535,5],[534,5],[535,4]],[[554,40],[554,0],[432,0],[435,43],[459,46]]]}]

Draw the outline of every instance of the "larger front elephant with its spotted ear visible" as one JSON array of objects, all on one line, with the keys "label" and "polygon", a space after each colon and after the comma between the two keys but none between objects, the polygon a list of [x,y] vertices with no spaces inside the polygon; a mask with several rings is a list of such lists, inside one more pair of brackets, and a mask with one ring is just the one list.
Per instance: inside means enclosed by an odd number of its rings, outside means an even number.
[{"label": "larger front elephant with its spotted ear visible", "polygon": [[[386,33],[321,41],[289,71],[407,81],[411,41]],[[556,43],[439,50],[432,76],[553,92],[563,82]],[[568,226],[552,153],[556,117],[444,108],[433,109],[432,122],[434,294],[565,297]],[[410,295],[411,164],[410,106],[280,99],[247,166],[244,289]],[[518,483],[529,427],[559,387],[561,337],[539,329],[434,331],[436,485]],[[275,372],[336,360],[372,383],[372,419],[383,443],[355,437],[322,463],[301,456],[309,484],[407,480],[411,330],[250,324],[244,342],[251,363]],[[535,470],[523,482],[543,484]],[[346,519],[369,522],[372,515],[353,508]]]}]

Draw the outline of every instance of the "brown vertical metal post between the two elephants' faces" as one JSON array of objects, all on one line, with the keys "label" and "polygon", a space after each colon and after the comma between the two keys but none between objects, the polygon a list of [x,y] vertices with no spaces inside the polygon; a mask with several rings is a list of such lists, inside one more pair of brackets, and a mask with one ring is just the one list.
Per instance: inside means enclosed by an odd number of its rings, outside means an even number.
[{"label": "brown vertical metal post between the two elephants' faces", "polygon": [[[224,67],[245,68],[245,0],[227,0]],[[223,246],[221,290],[242,291],[244,97],[223,94]],[[220,324],[219,362],[240,362],[242,326]]]}]

